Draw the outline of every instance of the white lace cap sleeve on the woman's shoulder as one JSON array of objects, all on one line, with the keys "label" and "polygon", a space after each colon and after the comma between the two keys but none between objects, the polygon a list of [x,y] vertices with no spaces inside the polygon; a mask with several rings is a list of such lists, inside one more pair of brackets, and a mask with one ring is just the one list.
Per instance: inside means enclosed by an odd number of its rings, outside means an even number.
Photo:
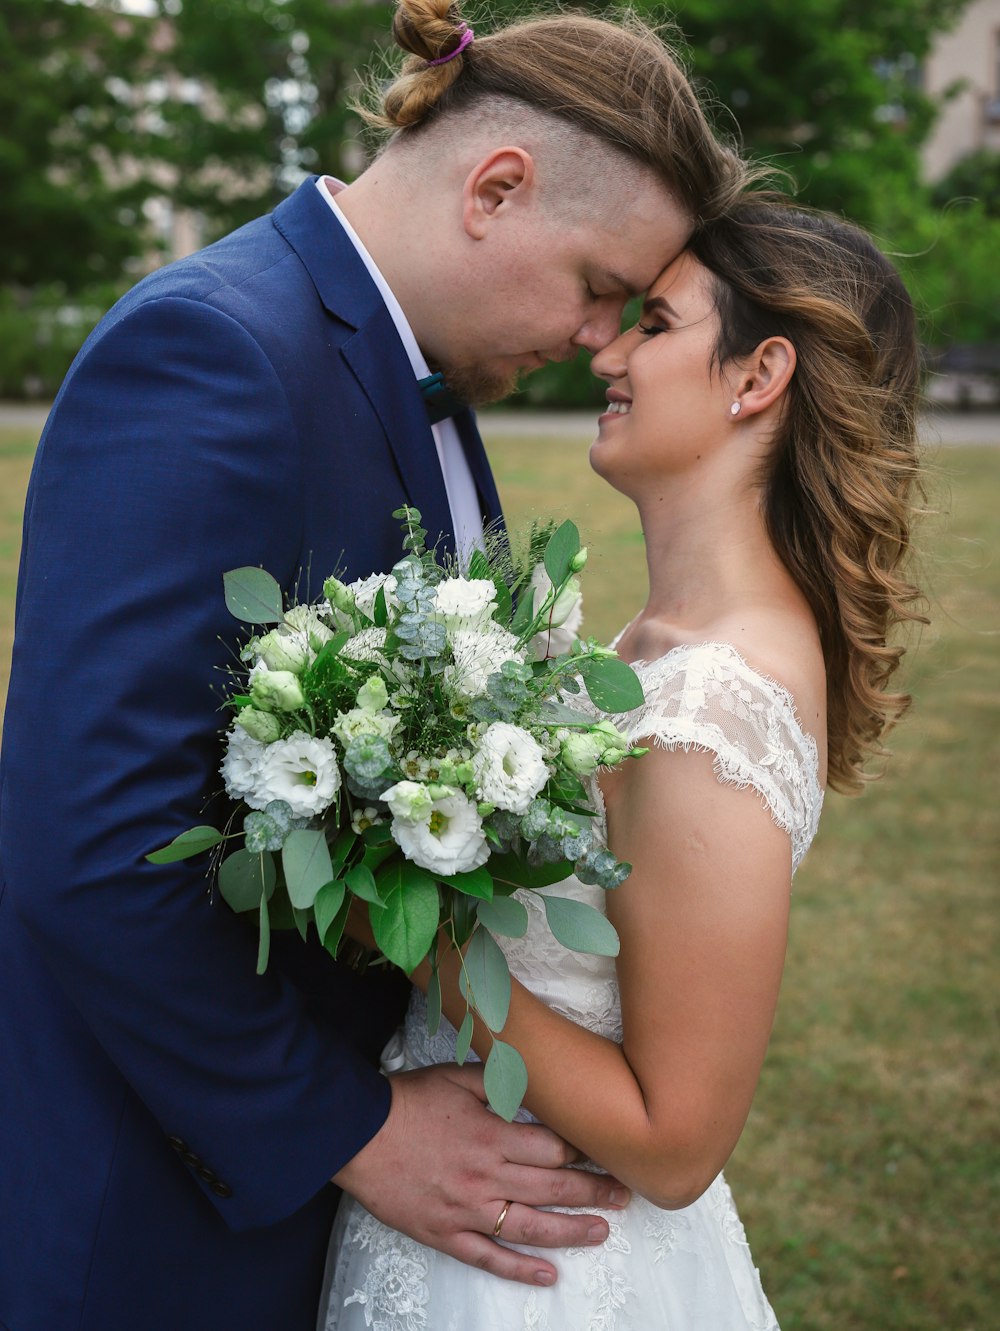
[{"label": "white lace cap sleeve on the woman's shoulder", "polygon": [[714,753],[718,779],[752,787],[788,833],[795,872],[816,833],[823,791],[816,741],[788,691],[728,643],[675,647],[634,666],[646,704],[626,720],[631,741]]}]

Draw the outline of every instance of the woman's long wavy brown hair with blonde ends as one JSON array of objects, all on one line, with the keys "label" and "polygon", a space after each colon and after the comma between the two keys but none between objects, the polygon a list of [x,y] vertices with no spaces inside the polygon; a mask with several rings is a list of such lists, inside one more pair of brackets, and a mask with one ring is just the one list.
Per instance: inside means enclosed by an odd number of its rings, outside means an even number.
[{"label": "woman's long wavy brown hair with blonde ends", "polygon": [[864,232],[780,196],[747,196],[691,248],[715,276],[720,366],[774,335],[796,351],[763,511],[819,626],[830,783],[858,791],[911,701],[888,689],[893,628],[925,622],[904,571],[920,486],[913,306]]}]

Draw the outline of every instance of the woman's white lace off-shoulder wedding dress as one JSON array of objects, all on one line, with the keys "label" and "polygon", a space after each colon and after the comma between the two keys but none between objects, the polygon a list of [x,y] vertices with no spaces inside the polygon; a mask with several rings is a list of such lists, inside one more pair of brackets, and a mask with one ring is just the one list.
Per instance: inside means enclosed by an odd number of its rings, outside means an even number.
[{"label": "woman's white lace off-shoulder wedding dress", "polygon": [[[726,643],[678,647],[635,668],[646,705],[625,721],[631,740],[714,753],[718,779],[752,787],[788,833],[795,872],[816,831],[823,792],[815,741],[788,692]],[[546,890],[602,906],[602,890],[575,877]],[[527,934],[498,940],[511,973],[557,1012],[621,1041],[614,961],[563,949],[534,896],[518,896],[530,912]],[[427,1036],[423,997],[414,993],[394,1066],[446,1062],[454,1051],[455,1032],[446,1022],[433,1040]],[[601,1214],[611,1229],[607,1242],[546,1250],[559,1279],[551,1288],[530,1288],[426,1248],[345,1197],[318,1328],[776,1331],[722,1174],[683,1210],[664,1211],[635,1195],[623,1211]]]}]

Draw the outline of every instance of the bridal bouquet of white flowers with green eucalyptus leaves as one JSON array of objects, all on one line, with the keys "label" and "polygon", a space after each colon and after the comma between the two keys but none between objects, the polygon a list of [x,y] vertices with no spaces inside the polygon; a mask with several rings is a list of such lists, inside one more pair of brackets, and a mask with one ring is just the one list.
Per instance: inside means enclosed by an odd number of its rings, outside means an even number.
[{"label": "bridal bouquet of white flowers with green eucalyptus leaves", "polygon": [[[226,705],[222,776],[242,808],[225,833],[197,827],[148,856],[164,864],[213,851],[218,889],[260,928],[314,926],[333,954],[348,913],[366,909],[382,954],[405,972],[430,958],[427,1021],[441,1020],[438,940],[465,949],[463,1062],[477,1013],[493,1033],[486,1093],[511,1118],[527,1085],[495,1033],[510,973],[495,934],[521,937],[518,889],[575,873],[615,888],[628,874],[593,833],[583,780],[646,752],[607,713],[642,705],[625,662],[579,626],[586,562],[571,522],[534,531],[523,567],[506,544],[466,575],[423,544],[415,508],[394,514],[406,551],[390,574],[324,584],[324,600],[284,608],[264,570],[225,575],[226,604],[260,626]],[[273,626],[273,627],[270,627]],[[586,689],[590,703],[571,705]],[[232,840],[242,845],[222,857]],[[567,948],[614,956],[613,925],[585,902],[542,894]]]}]

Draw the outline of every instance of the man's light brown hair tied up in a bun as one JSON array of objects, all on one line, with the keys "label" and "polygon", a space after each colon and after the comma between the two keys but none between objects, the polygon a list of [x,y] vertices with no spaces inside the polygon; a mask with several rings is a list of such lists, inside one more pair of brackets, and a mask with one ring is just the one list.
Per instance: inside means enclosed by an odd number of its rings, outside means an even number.
[{"label": "man's light brown hair tied up in a bun", "polygon": [[[526,19],[475,40],[453,60],[466,24],[447,0],[401,0],[393,36],[409,57],[362,114],[391,142],[431,126],[461,134],[469,117],[545,117],[573,126],[581,186],[595,206],[614,196],[607,158],[648,169],[695,224],[728,208],[748,180],[747,164],[715,137],[675,53],[635,15],[610,23],[558,13]],[[586,138],[583,138],[586,136]]]}]

